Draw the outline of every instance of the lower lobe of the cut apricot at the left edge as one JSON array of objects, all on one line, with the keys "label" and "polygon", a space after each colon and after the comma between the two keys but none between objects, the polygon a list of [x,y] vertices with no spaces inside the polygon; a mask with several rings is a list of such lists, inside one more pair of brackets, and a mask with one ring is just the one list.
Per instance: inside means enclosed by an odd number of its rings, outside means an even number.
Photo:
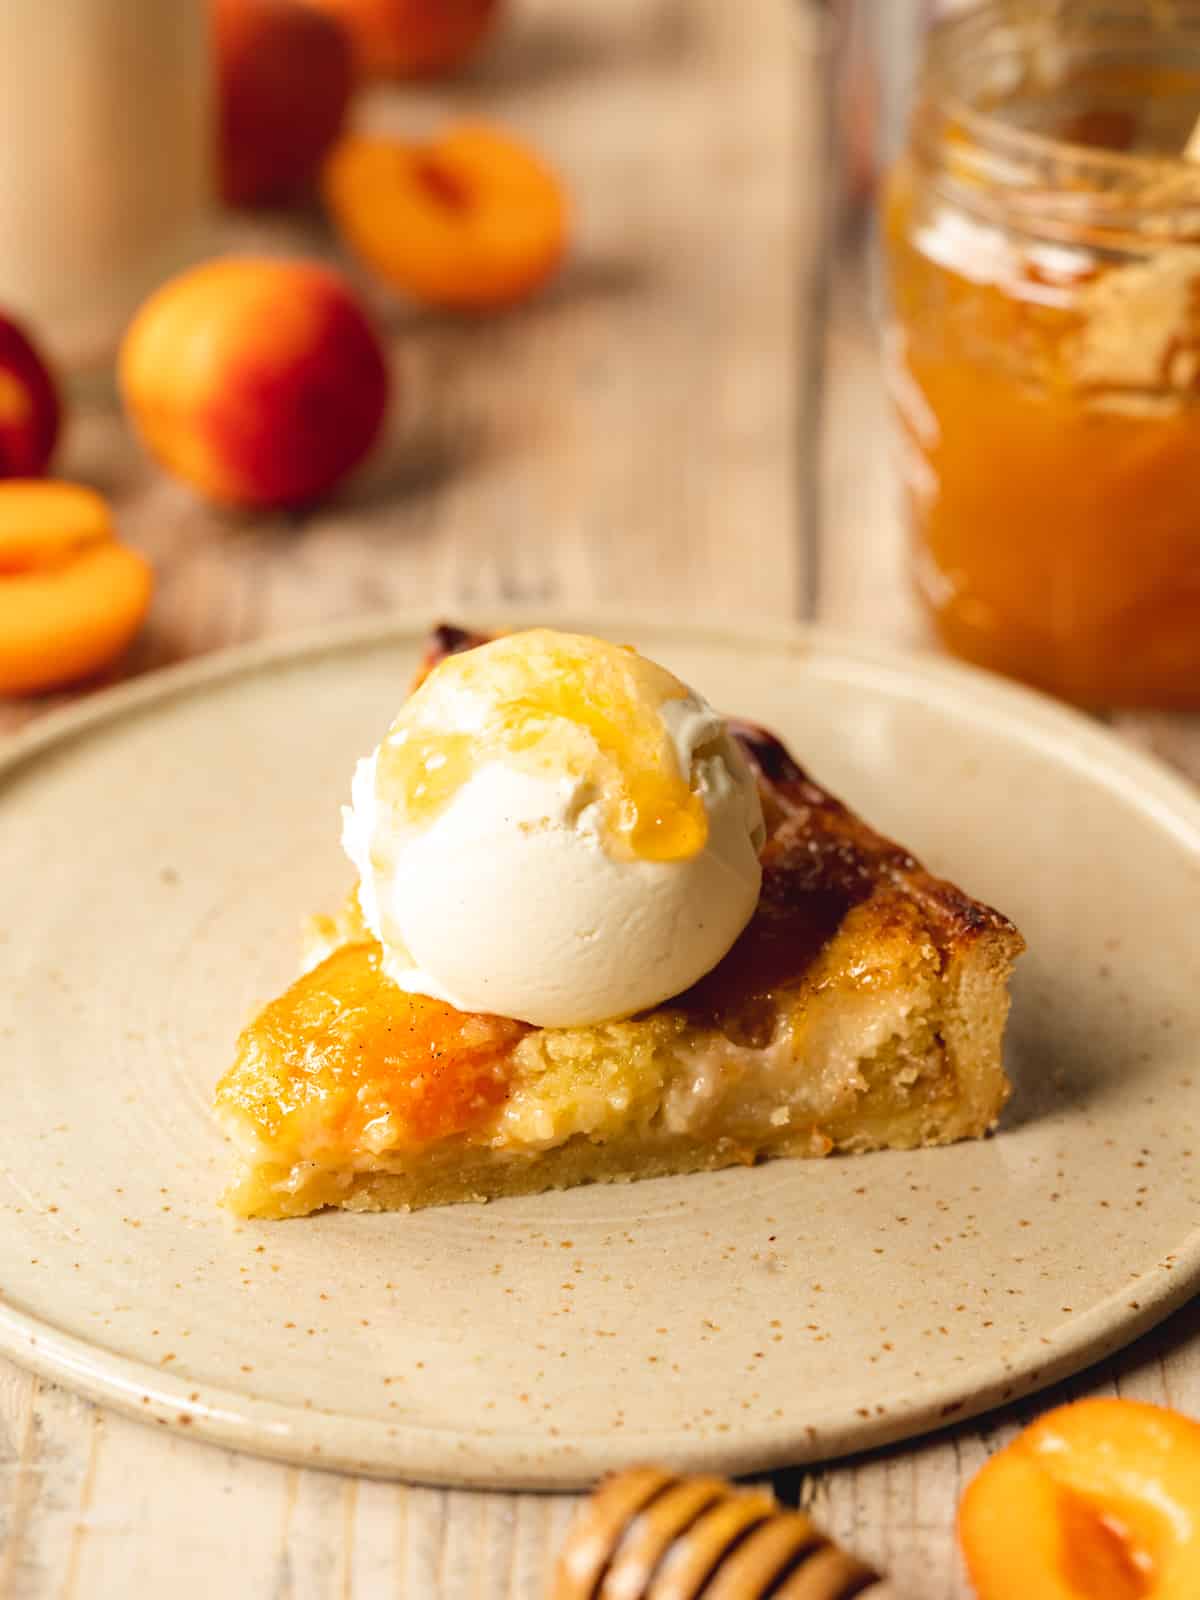
[{"label": "lower lobe of the cut apricot at the left edge", "polygon": [[112,541],[62,566],[0,578],[0,694],[40,693],[99,672],[138,632],[152,587],[149,563]]}]

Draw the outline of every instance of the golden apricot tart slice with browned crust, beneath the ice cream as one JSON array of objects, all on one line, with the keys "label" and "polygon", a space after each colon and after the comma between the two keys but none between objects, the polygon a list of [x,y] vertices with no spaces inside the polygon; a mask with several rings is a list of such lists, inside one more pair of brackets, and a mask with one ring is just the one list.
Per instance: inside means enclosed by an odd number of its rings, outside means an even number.
[{"label": "golden apricot tart slice with browned crust, beneath the ice cream", "polygon": [[[482,643],[438,629],[429,670]],[[979,1138],[1008,1096],[1024,942],[731,722],[766,845],[749,925],[626,1021],[533,1027],[410,994],[357,894],[245,1029],[216,1091],[243,1216],[378,1211]]]}]

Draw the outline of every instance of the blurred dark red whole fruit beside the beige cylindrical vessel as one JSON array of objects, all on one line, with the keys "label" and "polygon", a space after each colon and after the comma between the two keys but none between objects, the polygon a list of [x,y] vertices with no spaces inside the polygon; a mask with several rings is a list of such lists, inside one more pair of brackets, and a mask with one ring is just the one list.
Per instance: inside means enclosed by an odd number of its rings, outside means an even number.
[{"label": "blurred dark red whole fruit beside the beige cylindrical vessel", "polygon": [[221,192],[229,205],[302,194],[346,122],[350,40],[299,0],[214,0]]}]

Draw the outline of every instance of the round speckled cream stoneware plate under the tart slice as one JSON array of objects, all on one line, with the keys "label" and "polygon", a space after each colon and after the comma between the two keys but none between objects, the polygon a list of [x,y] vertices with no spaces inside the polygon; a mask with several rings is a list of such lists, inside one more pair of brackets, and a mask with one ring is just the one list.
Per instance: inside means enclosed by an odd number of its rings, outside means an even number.
[{"label": "round speckled cream stoneware plate under the tart slice", "polygon": [[1195,1288],[1192,794],[963,669],[782,629],[582,626],[776,728],[1019,923],[998,1136],[235,1222],[210,1091],[304,914],[349,885],[338,806],[421,627],[229,654],[48,720],[0,768],[6,1352],[246,1450],[576,1485],[634,1458],[741,1470],[901,1438]]}]

